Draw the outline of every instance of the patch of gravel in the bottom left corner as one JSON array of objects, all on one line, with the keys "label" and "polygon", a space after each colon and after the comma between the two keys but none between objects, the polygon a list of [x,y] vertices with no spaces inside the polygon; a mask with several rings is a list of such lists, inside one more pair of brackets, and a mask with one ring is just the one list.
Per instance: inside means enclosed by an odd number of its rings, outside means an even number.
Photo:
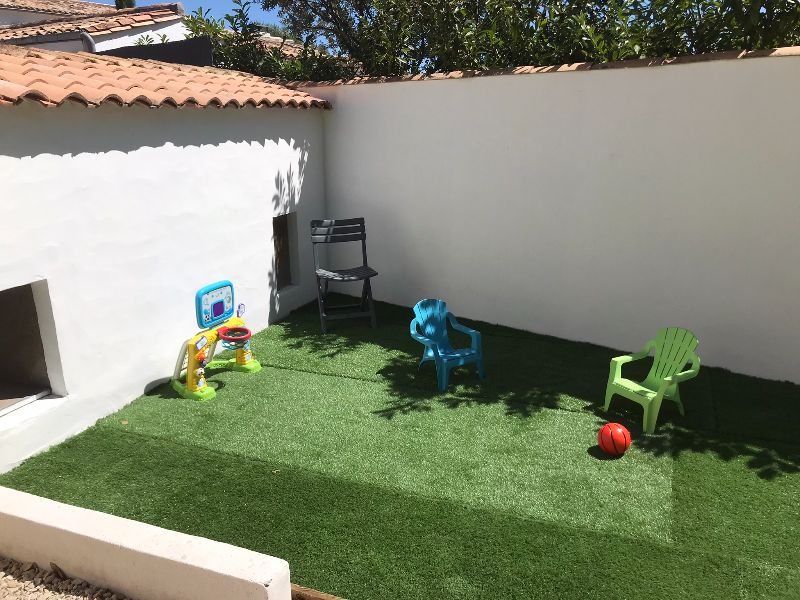
[{"label": "patch of gravel in the bottom left corner", "polygon": [[69,577],[58,565],[52,570],[0,556],[0,600],[131,600],[83,579]]}]

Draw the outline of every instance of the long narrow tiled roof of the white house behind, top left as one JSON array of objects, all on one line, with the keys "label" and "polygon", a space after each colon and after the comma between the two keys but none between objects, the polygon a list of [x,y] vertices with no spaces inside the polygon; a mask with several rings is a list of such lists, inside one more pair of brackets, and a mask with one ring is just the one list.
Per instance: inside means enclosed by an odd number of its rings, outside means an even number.
[{"label": "long narrow tiled roof of the white house behind, top left", "polygon": [[154,4],[142,8],[115,10],[111,14],[94,17],[49,19],[36,23],[2,27],[0,28],[0,41],[69,31],[85,31],[92,35],[104,35],[136,27],[148,27],[166,21],[177,21],[182,18],[182,14],[183,9],[179,4]]}]

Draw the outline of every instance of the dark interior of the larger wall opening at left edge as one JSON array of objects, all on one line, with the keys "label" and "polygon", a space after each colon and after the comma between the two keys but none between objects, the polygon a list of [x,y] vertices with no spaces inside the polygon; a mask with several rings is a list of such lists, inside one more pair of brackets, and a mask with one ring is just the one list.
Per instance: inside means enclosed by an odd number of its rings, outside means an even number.
[{"label": "dark interior of the larger wall opening at left edge", "polygon": [[0,290],[0,413],[50,392],[31,285]]}]

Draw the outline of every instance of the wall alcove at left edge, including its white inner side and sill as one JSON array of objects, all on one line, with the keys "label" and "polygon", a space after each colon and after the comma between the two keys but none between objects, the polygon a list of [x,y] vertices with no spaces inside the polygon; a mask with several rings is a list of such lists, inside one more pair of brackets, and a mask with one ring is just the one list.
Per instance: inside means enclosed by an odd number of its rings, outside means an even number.
[{"label": "wall alcove at left edge, including its white inner side and sill", "polygon": [[0,290],[0,348],[0,415],[65,393],[47,282]]}]

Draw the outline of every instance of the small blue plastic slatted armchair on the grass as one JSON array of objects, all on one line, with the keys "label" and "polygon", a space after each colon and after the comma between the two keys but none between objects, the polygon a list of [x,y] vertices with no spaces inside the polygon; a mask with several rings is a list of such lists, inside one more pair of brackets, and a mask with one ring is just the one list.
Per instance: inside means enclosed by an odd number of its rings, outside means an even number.
[{"label": "small blue plastic slatted armchair on the grass", "polygon": [[[428,361],[436,364],[436,379],[439,391],[447,389],[450,369],[462,365],[475,364],[478,376],[486,377],[483,370],[483,351],[481,350],[481,334],[474,329],[459,323],[453,313],[447,312],[447,304],[443,300],[420,300],[414,306],[416,317],[411,320],[411,337],[425,346],[422,353],[421,367]],[[447,322],[456,331],[466,333],[472,339],[469,348],[453,348],[447,337]]]}]

